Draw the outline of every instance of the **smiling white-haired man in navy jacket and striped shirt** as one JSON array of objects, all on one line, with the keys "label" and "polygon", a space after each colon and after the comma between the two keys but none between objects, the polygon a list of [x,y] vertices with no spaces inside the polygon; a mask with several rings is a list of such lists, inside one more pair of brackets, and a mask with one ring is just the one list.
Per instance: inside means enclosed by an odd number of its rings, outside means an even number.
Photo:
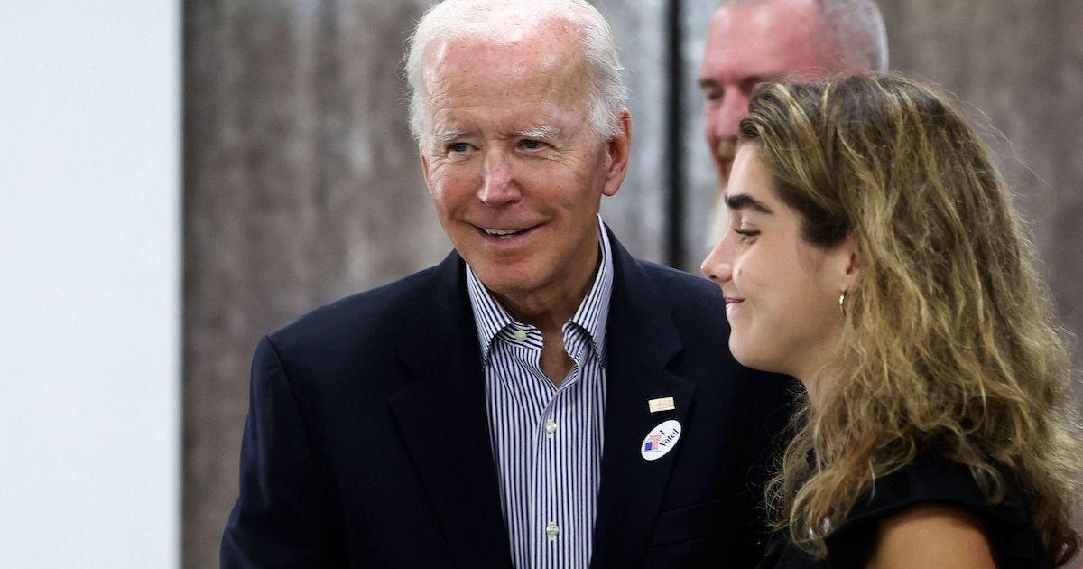
[{"label": "smiling white-haired man in navy jacket and striped shirt", "polygon": [[407,76],[455,251],[261,341],[222,566],[755,565],[784,382],[600,222],[631,133],[605,21],[447,0]]}]

